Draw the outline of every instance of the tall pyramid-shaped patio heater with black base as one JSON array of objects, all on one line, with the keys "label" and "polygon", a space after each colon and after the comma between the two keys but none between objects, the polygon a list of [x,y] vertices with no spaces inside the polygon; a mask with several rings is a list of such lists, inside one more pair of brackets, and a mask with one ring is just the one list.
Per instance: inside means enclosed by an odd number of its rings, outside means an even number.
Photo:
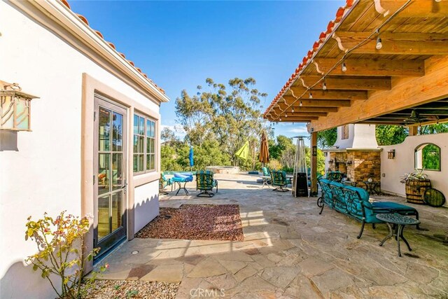
[{"label": "tall pyramid-shaped patio heater with black base", "polygon": [[294,197],[309,197],[308,193],[308,176],[307,176],[307,162],[305,160],[305,136],[295,136],[297,144],[295,148],[294,159],[294,174],[293,174],[293,196]]}]

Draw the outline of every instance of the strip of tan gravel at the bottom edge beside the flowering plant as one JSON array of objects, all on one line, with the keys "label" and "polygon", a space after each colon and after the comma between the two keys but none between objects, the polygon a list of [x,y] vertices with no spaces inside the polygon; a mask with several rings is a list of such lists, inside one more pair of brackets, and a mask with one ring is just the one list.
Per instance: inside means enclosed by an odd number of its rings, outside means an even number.
[{"label": "strip of tan gravel at the bottom edge beside the flowering plant", "polygon": [[83,298],[115,299],[115,298],[160,298],[176,297],[179,284],[141,281],[141,280],[102,280],[97,279],[93,285],[84,286]]}]

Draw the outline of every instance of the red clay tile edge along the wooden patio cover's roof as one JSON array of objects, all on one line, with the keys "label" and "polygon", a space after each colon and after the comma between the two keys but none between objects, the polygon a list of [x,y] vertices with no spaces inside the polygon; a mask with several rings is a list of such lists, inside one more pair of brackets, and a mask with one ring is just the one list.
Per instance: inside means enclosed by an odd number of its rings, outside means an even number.
[{"label": "red clay tile edge along the wooden patio cover's roof", "polygon": [[335,28],[335,25],[337,23],[341,22],[342,17],[344,17],[344,13],[346,13],[346,11],[349,11],[351,6],[353,6],[354,1],[355,0],[346,0],[345,6],[339,7],[339,9],[336,12],[335,20],[328,22],[327,31],[321,32],[321,34],[319,35],[319,39],[314,42],[312,49],[308,51],[308,53],[305,57],[303,57],[303,60],[302,60],[302,62],[300,62],[297,69],[295,69],[294,73],[290,76],[288,81],[285,83],[285,85],[283,85],[283,88],[281,88],[280,92],[276,95],[276,97],[274,97],[274,99],[272,100],[272,103],[269,105],[269,107],[267,107],[265,113],[263,113],[263,117],[266,116],[266,114],[269,113],[269,111],[279,101],[279,99],[281,99],[281,97],[283,97],[283,94],[286,92],[286,90],[288,90],[288,88],[290,88],[290,85],[301,74],[301,71],[304,68],[304,66],[307,65],[307,62],[311,59],[311,57],[313,57],[314,53],[316,53],[318,51],[318,49],[322,46],[322,44],[325,41],[325,39],[327,38],[327,36],[330,36],[332,34],[333,29]]}]

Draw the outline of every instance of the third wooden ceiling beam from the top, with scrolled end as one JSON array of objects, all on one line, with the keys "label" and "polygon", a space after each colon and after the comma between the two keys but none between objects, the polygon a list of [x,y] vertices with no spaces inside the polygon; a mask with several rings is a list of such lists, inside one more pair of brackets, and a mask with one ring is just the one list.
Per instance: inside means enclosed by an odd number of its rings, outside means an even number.
[{"label": "third wooden ceiling beam from the top, with scrolled end", "polygon": [[336,58],[316,58],[313,65],[317,74],[327,74],[335,65],[330,75],[339,76],[423,76],[425,64],[423,60],[372,60],[346,59],[346,71],[342,71],[341,63]]}]

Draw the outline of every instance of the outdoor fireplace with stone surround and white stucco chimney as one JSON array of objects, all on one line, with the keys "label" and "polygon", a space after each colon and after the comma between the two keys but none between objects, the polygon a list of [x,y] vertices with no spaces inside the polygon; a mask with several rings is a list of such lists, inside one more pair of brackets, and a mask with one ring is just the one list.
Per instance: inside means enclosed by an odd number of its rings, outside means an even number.
[{"label": "outdoor fireplace with stone surround and white stucco chimney", "polygon": [[374,125],[346,125],[337,128],[337,141],[325,152],[325,169],[345,174],[347,181],[364,186],[363,181],[381,181],[381,148]]}]

